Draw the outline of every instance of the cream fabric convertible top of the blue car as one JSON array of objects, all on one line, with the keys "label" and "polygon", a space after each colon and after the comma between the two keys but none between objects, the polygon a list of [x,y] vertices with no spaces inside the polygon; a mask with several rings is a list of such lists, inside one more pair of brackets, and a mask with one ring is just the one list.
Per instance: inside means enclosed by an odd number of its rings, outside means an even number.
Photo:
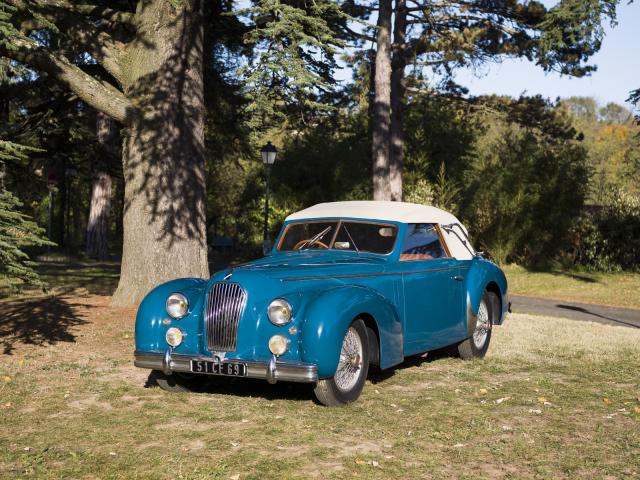
[{"label": "cream fabric convertible top of the blue car", "polygon": [[[408,202],[385,201],[348,201],[318,203],[299,212],[292,213],[286,220],[305,220],[310,218],[363,218],[368,220],[386,220],[401,223],[438,223],[447,225],[451,223],[462,225],[454,215],[444,210],[428,205]],[[451,255],[457,259],[470,259],[471,252],[461,241],[458,235],[449,231],[442,232]],[[473,247],[471,247],[473,249]]]}]

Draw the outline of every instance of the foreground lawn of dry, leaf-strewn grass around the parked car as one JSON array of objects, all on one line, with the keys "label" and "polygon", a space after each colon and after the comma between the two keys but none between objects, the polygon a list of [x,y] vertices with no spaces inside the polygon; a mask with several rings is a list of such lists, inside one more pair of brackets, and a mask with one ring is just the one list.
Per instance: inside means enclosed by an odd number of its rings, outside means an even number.
[{"label": "foreground lawn of dry, leaf-strewn grass around the parked car", "polygon": [[413,358],[329,409],[305,385],[146,386],[135,310],[106,297],[0,305],[2,478],[640,476],[638,330],[512,314],[486,359]]}]

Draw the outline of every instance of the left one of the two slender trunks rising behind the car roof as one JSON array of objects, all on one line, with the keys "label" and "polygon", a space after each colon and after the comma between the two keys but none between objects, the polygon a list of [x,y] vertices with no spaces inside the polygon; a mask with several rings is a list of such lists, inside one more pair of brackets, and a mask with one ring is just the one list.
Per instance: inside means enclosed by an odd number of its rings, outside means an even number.
[{"label": "left one of the two slender trunks rising behind the car roof", "polygon": [[373,199],[389,200],[389,124],[391,110],[391,5],[380,0],[377,24],[375,92],[372,119]]}]

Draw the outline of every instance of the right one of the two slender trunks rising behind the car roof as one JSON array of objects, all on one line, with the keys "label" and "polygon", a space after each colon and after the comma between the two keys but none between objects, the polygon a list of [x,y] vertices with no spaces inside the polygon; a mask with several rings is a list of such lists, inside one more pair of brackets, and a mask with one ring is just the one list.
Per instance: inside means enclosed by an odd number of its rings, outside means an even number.
[{"label": "right one of the two slender trunks rising behind the car roof", "polygon": [[389,190],[393,201],[402,201],[402,166],[404,148],[404,70],[407,66],[403,47],[407,33],[406,0],[396,0],[393,26],[393,61],[391,64],[391,128],[389,155]]}]

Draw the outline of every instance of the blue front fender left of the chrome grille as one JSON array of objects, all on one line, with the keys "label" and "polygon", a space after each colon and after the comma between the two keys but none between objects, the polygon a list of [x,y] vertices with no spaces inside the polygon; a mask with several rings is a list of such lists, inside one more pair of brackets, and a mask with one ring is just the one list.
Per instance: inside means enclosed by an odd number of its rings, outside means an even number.
[{"label": "blue front fender left of the chrome grille", "polygon": [[[136,315],[136,350],[164,351],[167,348],[165,333],[171,326],[188,332],[184,341],[175,351],[177,353],[199,353],[198,335],[202,328],[202,302],[207,281],[201,278],[178,278],[158,285],[142,300]],[[180,320],[174,320],[167,314],[165,303],[174,292],[182,293],[189,301],[189,311]],[[169,324],[165,325],[165,319]]]}]

